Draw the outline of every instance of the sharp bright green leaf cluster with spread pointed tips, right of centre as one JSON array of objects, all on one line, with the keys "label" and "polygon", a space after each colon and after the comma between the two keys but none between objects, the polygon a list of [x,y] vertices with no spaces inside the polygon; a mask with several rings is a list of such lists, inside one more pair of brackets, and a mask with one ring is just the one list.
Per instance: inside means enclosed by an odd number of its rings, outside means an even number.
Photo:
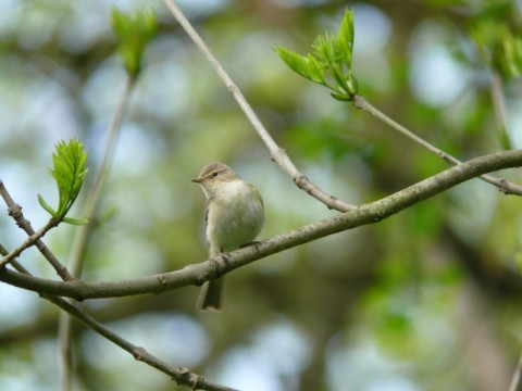
[{"label": "sharp bright green leaf cluster with spread pointed tips, right of centre", "polygon": [[274,51],[298,75],[331,89],[335,99],[350,101],[358,91],[351,72],[353,36],[353,11],[346,10],[337,36],[330,31],[318,36],[312,53],[303,56],[282,46],[275,46]]}]

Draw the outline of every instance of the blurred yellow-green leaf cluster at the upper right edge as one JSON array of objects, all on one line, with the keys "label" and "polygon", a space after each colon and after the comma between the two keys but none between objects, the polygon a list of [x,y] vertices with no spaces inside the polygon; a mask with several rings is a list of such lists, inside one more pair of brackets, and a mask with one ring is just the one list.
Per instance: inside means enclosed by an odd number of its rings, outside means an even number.
[{"label": "blurred yellow-green leaf cluster at the upper right edge", "polygon": [[494,20],[475,24],[471,36],[481,49],[484,59],[504,78],[522,76],[522,36]]}]

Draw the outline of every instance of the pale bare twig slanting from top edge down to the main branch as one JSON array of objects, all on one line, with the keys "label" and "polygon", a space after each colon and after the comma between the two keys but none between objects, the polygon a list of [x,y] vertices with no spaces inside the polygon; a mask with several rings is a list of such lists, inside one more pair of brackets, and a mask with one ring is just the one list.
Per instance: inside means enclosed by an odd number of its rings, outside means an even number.
[{"label": "pale bare twig slanting from top edge down to the main branch", "polygon": [[324,191],[322,191],[318,186],[312,184],[310,179],[308,179],[304,175],[302,175],[297,169],[296,165],[288,157],[286,151],[279,146],[277,146],[277,143],[272,138],[272,136],[270,136],[270,134],[264,128],[263,124],[261,123],[259,117],[256,115],[250,104],[247,102],[247,100],[243,96],[239,88],[235,85],[235,83],[228,76],[228,74],[220,64],[217,59],[212,54],[212,52],[207,47],[204,41],[201,39],[199,34],[190,25],[190,22],[188,22],[188,20],[185,17],[182,10],[175,4],[173,0],[163,0],[163,2],[172,12],[172,14],[177,20],[177,22],[182,25],[183,29],[185,29],[185,31],[194,41],[194,43],[196,43],[199,50],[203,53],[204,58],[210,63],[210,65],[214,68],[214,71],[217,73],[217,75],[220,76],[220,78],[222,79],[226,88],[231,91],[232,96],[234,97],[236,102],[239,104],[239,106],[241,108],[247,118],[252,124],[259,137],[269,149],[271,159],[279,165],[279,167],[291,178],[291,180],[294,180],[297,187],[299,187],[301,190],[304,190],[307,193],[309,193],[316,200],[324,203],[328,209],[337,210],[339,212],[348,212],[353,210],[355,209],[353,205],[343,202],[334,195],[326,194]]}]

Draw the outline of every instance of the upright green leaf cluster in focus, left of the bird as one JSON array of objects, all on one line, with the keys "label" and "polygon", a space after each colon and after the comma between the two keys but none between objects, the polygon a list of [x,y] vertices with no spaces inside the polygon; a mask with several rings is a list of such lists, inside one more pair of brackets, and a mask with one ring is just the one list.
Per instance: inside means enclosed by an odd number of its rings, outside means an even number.
[{"label": "upright green leaf cluster in focus, left of the bird", "polygon": [[75,225],[87,223],[85,219],[65,217],[82,189],[85,174],[88,171],[85,167],[86,161],[87,152],[84,150],[83,142],[78,140],[60,141],[55,146],[55,152],[52,154],[53,168],[49,172],[58,186],[58,207],[54,210],[40,194],[38,194],[38,201],[57,222]]}]

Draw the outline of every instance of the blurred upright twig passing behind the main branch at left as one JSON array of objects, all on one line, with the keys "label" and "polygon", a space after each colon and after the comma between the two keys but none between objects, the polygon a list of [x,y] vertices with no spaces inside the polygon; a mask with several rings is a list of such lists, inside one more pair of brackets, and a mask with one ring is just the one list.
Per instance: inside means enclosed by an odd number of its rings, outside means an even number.
[{"label": "blurred upright twig passing behind the main branch at left", "polygon": [[[73,276],[79,278],[84,265],[85,248],[92,235],[94,217],[98,202],[100,200],[101,190],[105,184],[107,176],[109,174],[112,155],[116,146],[117,136],[120,134],[123,115],[130,98],[132,87],[134,86],[134,78],[127,75],[124,89],[120,96],[120,100],[114,111],[111,124],[109,126],[109,137],[107,140],[103,157],[98,169],[98,174],[95,178],[91,191],[87,195],[85,206],[82,211],[82,216],[88,218],[89,223],[82,227],[78,227],[73,240],[73,245],[70,256],[70,267]],[[60,344],[60,379],[61,390],[70,391],[72,384],[72,368],[73,368],[73,354],[72,354],[72,323],[71,316],[66,312],[60,313],[59,327],[58,327],[59,344]]]}]

